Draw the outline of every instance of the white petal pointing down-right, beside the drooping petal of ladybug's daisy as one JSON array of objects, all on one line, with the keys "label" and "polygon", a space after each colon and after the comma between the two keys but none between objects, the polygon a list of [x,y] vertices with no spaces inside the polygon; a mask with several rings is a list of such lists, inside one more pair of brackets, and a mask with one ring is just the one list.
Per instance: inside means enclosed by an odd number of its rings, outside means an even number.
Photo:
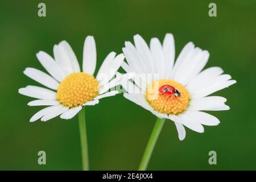
[{"label": "white petal pointing down-right, beside the drooping petal of ladybug's daisy", "polygon": [[189,129],[191,129],[193,131],[196,131],[199,133],[204,132],[204,127],[199,122],[197,122],[195,119],[191,119],[184,113],[179,114],[179,115],[170,114],[169,118],[174,122],[179,122],[179,123],[187,126]]}]

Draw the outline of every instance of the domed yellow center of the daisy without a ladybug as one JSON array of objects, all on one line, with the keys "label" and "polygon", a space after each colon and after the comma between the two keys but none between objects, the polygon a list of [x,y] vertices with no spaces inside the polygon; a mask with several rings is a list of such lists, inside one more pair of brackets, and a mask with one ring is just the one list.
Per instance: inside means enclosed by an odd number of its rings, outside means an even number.
[{"label": "domed yellow center of the daisy without a ladybug", "polygon": [[71,73],[57,89],[57,100],[68,107],[76,107],[98,96],[98,81],[87,73]]}]

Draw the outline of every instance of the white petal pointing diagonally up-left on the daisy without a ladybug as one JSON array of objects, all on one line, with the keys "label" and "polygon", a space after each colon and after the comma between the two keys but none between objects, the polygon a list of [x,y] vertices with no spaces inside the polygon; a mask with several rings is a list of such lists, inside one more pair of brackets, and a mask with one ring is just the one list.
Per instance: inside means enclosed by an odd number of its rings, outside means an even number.
[{"label": "white petal pointing diagonally up-left on the daisy without a ladybug", "polygon": [[38,57],[38,60],[49,73],[49,75],[51,75],[57,81],[61,82],[65,78],[65,73],[63,70],[56,63],[56,61],[48,55],[48,53],[39,51],[36,54],[36,57]]}]

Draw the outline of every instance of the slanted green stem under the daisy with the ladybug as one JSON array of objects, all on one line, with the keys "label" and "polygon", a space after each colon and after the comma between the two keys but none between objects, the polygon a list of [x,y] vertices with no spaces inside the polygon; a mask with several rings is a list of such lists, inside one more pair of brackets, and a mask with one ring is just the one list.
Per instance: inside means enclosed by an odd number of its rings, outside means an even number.
[{"label": "slanted green stem under the daisy with the ladybug", "polygon": [[159,134],[163,128],[164,120],[165,120],[164,118],[156,119],[154,129],[151,133],[150,139],[148,140],[147,147],[144,151],[144,154],[141,160],[141,164],[139,165],[139,169],[138,169],[139,171],[145,171],[147,168],[148,162],[151,158],[152,152],[155,147],[156,140],[158,140]]}]

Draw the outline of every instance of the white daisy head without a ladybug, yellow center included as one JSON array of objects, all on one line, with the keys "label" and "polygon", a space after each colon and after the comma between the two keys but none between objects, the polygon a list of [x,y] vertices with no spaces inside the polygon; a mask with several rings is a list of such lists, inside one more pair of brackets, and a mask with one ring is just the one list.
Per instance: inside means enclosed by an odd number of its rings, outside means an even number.
[{"label": "white daisy head without a ladybug, yellow center included", "polygon": [[83,106],[96,105],[101,98],[118,93],[117,90],[105,92],[118,84],[119,78],[112,78],[124,60],[122,53],[115,56],[115,52],[110,52],[96,77],[93,76],[96,68],[93,36],[87,36],[84,42],[82,72],[75,53],[66,41],[55,45],[53,54],[54,59],[43,51],[36,54],[49,75],[35,68],[24,71],[26,76],[47,87],[28,85],[19,89],[20,94],[38,99],[29,102],[29,106],[48,106],[33,115],[30,122],[40,118],[41,121],[48,121],[58,115],[71,119]]}]

